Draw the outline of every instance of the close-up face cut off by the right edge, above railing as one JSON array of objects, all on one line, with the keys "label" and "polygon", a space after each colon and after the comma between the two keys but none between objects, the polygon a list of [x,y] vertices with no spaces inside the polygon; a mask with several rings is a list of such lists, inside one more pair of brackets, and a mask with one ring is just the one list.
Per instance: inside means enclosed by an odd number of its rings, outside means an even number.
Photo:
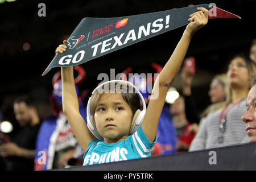
[{"label": "close-up face cut off by the right edge, above railing", "polygon": [[247,111],[242,116],[250,142],[256,142],[256,85],[250,89],[246,100]]}]

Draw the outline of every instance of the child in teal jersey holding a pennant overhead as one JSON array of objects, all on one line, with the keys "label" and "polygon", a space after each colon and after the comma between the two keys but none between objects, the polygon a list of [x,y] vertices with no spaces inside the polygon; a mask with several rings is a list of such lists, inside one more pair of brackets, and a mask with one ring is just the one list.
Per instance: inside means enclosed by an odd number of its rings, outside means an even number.
[{"label": "child in teal jersey holding a pennant overhead", "polygon": [[[203,7],[193,13],[188,19],[190,23],[185,28],[183,36],[177,44],[174,53],[160,72],[155,81],[150,100],[138,130],[131,135],[131,123],[137,117],[139,99],[137,94],[97,93],[92,95],[92,123],[104,142],[94,137],[84,119],[79,113],[79,102],[74,84],[73,67],[61,67],[63,85],[63,111],[67,115],[73,133],[85,151],[84,166],[116,162],[121,160],[145,158],[156,142],[156,130],[166,94],[176,73],[184,60],[192,35],[208,22],[208,10]],[[65,43],[65,40],[64,40]],[[65,51],[61,44],[56,53]],[[131,85],[132,86],[132,85]],[[140,116],[141,117],[141,116]]]}]

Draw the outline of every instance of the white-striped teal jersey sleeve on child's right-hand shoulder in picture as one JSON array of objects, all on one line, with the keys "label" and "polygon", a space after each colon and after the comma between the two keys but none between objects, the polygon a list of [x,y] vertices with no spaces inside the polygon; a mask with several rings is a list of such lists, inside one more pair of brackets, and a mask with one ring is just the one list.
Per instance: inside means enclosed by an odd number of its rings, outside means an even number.
[{"label": "white-striped teal jersey sleeve on child's right-hand shoulder in picture", "polygon": [[156,136],[154,142],[150,142],[150,140],[148,140],[146,134],[142,130],[142,127],[140,126],[139,129],[132,135],[132,138],[135,149],[142,158],[147,158],[148,156],[151,156],[151,150],[156,143]]}]

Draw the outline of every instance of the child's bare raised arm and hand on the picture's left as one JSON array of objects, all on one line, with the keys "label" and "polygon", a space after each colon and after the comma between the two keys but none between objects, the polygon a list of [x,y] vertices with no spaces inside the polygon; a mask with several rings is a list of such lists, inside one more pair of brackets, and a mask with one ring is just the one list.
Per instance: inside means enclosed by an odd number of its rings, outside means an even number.
[{"label": "child's bare raised arm and hand on the picture's left", "polygon": [[[65,43],[65,42],[64,42]],[[56,53],[65,51],[65,47],[61,44]],[[61,82],[62,82],[62,102],[63,112],[67,116],[69,125],[76,136],[77,141],[84,151],[86,151],[89,142],[94,139],[90,133],[84,118],[79,112],[79,101],[77,98],[73,67],[61,67]]]}]

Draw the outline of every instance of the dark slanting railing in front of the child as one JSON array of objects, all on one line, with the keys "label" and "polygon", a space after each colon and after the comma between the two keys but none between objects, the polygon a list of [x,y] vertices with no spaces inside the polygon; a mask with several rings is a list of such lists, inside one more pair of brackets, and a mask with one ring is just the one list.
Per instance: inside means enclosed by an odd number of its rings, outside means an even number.
[{"label": "dark slanting railing in front of the child", "polygon": [[256,142],[122,162],[71,167],[70,171],[256,170]]}]

